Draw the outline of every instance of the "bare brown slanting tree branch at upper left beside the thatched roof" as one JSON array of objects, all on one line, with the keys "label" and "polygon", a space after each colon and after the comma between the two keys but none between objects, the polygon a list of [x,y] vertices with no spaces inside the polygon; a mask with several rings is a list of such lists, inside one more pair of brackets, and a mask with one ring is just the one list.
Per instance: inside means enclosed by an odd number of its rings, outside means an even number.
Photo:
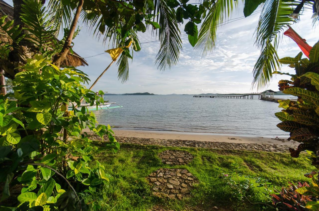
[{"label": "bare brown slanting tree branch at upper left beside the thatched roof", "polygon": [[57,67],[60,67],[60,63],[61,61],[63,61],[66,58],[66,55],[69,53],[69,50],[71,48],[71,43],[72,43],[72,39],[73,39],[73,35],[76,29],[76,26],[78,24],[78,19],[80,17],[80,13],[82,10],[82,6],[83,6],[83,2],[84,0],[79,0],[79,4],[77,7],[77,11],[75,12],[71,27],[70,27],[70,31],[68,34],[68,37],[66,38],[63,48],[61,50],[61,52],[59,54],[56,54],[53,57],[53,64],[56,65]]}]

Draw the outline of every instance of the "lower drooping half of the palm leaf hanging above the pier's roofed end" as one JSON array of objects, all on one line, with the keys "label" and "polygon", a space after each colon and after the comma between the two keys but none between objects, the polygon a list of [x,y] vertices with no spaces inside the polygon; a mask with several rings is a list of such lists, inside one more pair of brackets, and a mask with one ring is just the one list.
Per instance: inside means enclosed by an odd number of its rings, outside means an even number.
[{"label": "lower drooping half of the palm leaf hanging above the pier's roofed end", "polygon": [[260,53],[260,56],[254,66],[253,70],[253,87],[257,89],[262,89],[269,85],[272,72],[277,71],[279,66],[278,55],[275,47],[271,44],[270,40],[266,42],[266,46]]}]

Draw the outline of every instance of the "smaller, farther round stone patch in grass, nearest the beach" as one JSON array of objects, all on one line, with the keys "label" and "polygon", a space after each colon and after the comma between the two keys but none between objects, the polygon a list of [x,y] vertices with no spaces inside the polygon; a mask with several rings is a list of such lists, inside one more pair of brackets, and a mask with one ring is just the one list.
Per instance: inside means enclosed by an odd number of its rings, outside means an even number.
[{"label": "smaller, farther round stone patch in grass, nearest the beach", "polygon": [[189,152],[181,150],[166,150],[158,156],[162,159],[162,163],[170,165],[189,164],[194,158]]}]

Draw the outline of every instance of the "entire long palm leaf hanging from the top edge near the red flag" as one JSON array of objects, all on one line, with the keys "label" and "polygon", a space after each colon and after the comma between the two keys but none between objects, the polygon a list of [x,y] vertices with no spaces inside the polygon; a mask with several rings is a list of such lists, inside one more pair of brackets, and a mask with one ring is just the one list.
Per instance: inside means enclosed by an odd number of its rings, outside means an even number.
[{"label": "entire long palm leaf hanging from the top edge near the red flag", "polygon": [[276,49],[282,37],[280,33],[288,25],[296,22],[288,17],[296,5],[297,3],[283,0],[266,0],[263,4],[255,31],[255,45],[261,48],[261,54],[253,69],[253,87],[257,87],[257,89],[269,85],[272,71],[280,70]]}]

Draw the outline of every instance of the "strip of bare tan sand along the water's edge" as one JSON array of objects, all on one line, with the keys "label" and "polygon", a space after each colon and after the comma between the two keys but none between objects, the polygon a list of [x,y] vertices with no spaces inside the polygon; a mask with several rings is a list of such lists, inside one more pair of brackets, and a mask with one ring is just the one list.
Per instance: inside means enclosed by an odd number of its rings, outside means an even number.
[{"label": "strip of bare tan sand along the water's edge", "polygon": [[[88,129],[85,129],[89,132]],[[148,130],[119,130],[113,129],[115,136],[134,137],[146,139],[183,140],[199,142],[227,142],[240,144],[278,144],[288,146],[298,146],[298,142],[287,141],[289,136],[252,136],[234,134],[213,134],[194,132],[170,132],[170,131],[148,131]]]}]

